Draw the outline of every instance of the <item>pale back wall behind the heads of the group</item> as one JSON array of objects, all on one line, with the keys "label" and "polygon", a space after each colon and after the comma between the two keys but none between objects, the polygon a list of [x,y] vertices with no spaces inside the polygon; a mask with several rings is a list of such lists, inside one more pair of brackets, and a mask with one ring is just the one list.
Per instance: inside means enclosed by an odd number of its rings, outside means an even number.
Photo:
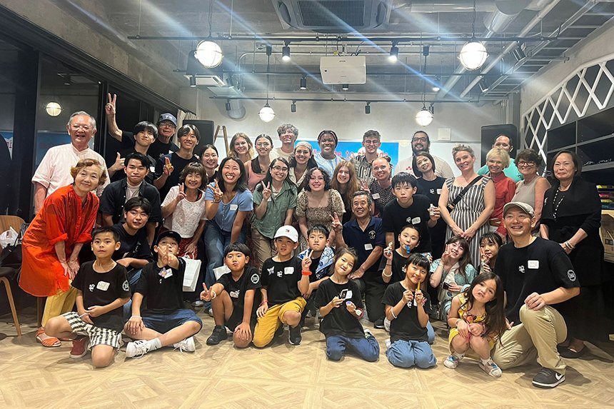
[{"label": "pale back wall behind the heads of the group", "polygon": [[[365,131],[376,129],[381,133],[382,141],[401,143],[399,157],[402,159],[411,154],[409,140],[415,131],[421,129],[414,120],[416,112],[422,108],[421,103],[371,103],[371,113],[366,115],[364,102],[298,101],[296,113],[291,113],[291,101],[269,101],[276,117],[273,121],[264,123],[258,117],[258,111],[264,105],[264,101],[243,101],[247,113],[244,118],[237,121],[226,115],[224,107],[226,100],[209,99],[208,91],[199,91],[198,94],[198,119],[214,121],[216,126],[226,125],[229,138],[236,132],[247,133],[250,137],[267,133],[273,137],[275,146],[281,146],[276,137],[276,129],[281,123],[292,123],[296,126],[299,131],[298,140],[315,140],[323,129],[333,129],[342,141],[362,141]],[[193,94],[191,96],[195,97]],[[283,96],[278,95],[278,97]],[[288,96],[292,97],[296,98],[296,94]],[[301,97],[311,96],[301,94]],[[313,95],[313,98],[323,98],[323,96]],[[348,98],[378,99],[382,96],[348,96]],[[503,123],[500,106],[439,103],[435,106],[433,122],[423,129],[431,137],[431,152],[436,156],[441,156],[451,163],[452,146],[463,142],[474,146],[479,162],[480,128],[496,123]],[[439,128],[451,129],[451,141],[437,140]],[[218,138],[216,146],[223,154],[225,151],[223,139]]]}]

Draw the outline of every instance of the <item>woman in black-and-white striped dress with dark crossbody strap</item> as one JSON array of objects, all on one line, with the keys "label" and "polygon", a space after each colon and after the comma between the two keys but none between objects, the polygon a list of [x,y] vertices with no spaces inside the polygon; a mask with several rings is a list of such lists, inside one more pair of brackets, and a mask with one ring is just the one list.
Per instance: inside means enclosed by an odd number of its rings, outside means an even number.
[{"label": "woman in black-and-white striped dress with dark crossbody strap", "polygon": [[488,233],[488,219],[495,208],[495,185],[488,176],[481,176],[480,180],[468,188],[452,210],[448,208],[469,183],[480,177],[473,169],[475,153],[470,146],[454,146],[452,156],[460,176],[450,178],[443,184],[439,211],[448,224],[446,237],[458,235],[465,238],[469,242],[471,262],[477,263],[480,260],[480,236]]}]

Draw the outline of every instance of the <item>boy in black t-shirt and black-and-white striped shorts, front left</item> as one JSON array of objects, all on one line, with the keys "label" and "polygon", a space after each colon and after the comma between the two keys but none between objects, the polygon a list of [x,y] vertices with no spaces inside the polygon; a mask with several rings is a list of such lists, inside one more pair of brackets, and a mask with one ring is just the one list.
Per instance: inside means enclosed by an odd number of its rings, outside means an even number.
[{"label": "boy in black t-shirt and black-and-white striped shorts, front left", "polygon": [[[79,267],[71,286],[76,288],[77,312],[51,318],[45,330],[52,337],[73,338],[71,358],[81,358],[91,347],[95,368],[111,365],[121,346],[124,319],[121,306],[130,299],[126,268],[111,259],[119,248],[119,236],[110,227],[92,233],[95,261]],[[89,345],[88,345],[89,343]]]}]

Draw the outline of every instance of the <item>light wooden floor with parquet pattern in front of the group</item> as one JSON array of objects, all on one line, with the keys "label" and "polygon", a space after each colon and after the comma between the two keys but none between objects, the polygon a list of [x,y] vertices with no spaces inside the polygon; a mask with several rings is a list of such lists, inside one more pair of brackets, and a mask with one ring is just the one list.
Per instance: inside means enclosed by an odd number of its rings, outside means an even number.
[{"label": "light wooden floor with parquet pattern in front of the group", "polygon": [[109,368],[94,370],[89,354],[69,358],[68,342],[60,348],[36,343],[34,313],[28,313],[21,313],[21,338],[10,315],[0,318],[0,408],[614,407],[613,342],[603,349],[590,345],[590,355],[569,361],[563,385],[542,390],[530,385],[537,364],[506,370],[499,379],[472,360],[456,370],[444,367],[443,323],[435,323],[436,368],[403,370],[388,363],[383,330],[373,330],[381,345],[378,362],[353,356],[331,362],[313,318],[299,346],[287,343],[286,332],[271,348],[236,350],[228,341],[205,345],[213,318],[201,311],[195,353],[165,348],[135,360],[122,348]]}]

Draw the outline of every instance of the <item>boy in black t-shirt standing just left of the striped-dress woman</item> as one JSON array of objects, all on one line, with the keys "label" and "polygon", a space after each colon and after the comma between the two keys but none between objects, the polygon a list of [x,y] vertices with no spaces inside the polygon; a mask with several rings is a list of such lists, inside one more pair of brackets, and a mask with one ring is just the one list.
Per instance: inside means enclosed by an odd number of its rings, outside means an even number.
[{"label": "boy in black t-shirt standing just left of the striped-dress woman", "polygon": [[417,186],[416,178],[406,172],[398,173],[392,178],[392,192],[396,199],[384,207],[381,216],[382,228],[386,232],[386,243],[394,241],[394,248],[397,248],[401,228],[412,224],[420,232],[416,253],[422,253],[431,259],[431,233],[428,228],[436,225],[440,215],[438,209],[433,209],[431,216],[428,210],[431,201],[426,196],[415,194]]}]

